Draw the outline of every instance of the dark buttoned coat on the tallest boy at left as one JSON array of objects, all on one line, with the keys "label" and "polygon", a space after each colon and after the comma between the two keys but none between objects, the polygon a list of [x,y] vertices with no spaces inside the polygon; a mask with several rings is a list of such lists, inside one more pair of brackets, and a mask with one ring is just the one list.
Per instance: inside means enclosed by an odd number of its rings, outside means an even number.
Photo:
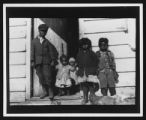
[{"label": "dark buttoned coat on the tallest boy at left", "polygon": [[52,60],[58,58],[58,52],[56,48],[45,39],[43,43],[40,43],[40,39],[37,37],[31,44],[31,61],[35,65],[38,64],[50,64]]}]

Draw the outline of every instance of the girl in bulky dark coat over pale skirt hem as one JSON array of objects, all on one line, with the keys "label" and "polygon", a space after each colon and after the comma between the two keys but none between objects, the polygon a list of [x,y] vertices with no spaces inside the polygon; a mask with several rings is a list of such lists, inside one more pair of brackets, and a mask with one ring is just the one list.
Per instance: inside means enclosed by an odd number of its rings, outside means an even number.
[{"label": "girl in bulky dark coat over pale skirt hem", "polygon": [[96,54],[91,50],[91,41],[88,38],[82,38],[80,43],[81,49],[76,59],[79,68],[77,76],[83,90],[82,104],[85,105],[88,103],[88,93],[90,92],[90,96],[95,95],[94,83],[99,82],[96,76],[98,60]]}]

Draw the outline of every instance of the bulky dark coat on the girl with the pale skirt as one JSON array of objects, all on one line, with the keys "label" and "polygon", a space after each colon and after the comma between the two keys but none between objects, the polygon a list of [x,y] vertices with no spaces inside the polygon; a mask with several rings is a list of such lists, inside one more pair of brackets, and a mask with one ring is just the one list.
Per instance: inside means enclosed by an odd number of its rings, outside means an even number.
[{"label": "bulky dark coat on the girl with the pale skirt", "polygon": [[86,76],[96,75],[98,59],[93,51],[88,50],[84,53],[82,50],[79,50],[76,60],[79,67],[77,72],[78,76],[82,77],[84,75],[84,71]]}]

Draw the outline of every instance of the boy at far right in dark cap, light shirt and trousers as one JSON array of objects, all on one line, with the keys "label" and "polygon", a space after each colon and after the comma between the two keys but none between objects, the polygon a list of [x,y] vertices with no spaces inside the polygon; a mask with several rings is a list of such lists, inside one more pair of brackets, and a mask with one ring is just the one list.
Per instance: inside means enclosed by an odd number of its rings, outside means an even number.
[{"label": "boy at far right in dark cap, light shirt and trousers", "polygon": [[108,50],[108,39],[99,39],[100,50],[96,52],[98,57],[98,78],[100,80],[101,93],[103,96],[107,96],[109,92],[111,96],[116,94],[115,82],[118,82],[118,74],[116,72],[116,65],[114,54]]}]

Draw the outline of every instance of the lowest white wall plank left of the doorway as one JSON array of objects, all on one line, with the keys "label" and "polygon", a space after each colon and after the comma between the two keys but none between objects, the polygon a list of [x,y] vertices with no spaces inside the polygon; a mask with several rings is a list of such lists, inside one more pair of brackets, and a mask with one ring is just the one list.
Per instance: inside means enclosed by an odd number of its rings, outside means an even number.
[{"label": "lowest white wall plank left of the doorway", "polygon": [[25,92],[10,92],[10,102],[24,102]]}]

